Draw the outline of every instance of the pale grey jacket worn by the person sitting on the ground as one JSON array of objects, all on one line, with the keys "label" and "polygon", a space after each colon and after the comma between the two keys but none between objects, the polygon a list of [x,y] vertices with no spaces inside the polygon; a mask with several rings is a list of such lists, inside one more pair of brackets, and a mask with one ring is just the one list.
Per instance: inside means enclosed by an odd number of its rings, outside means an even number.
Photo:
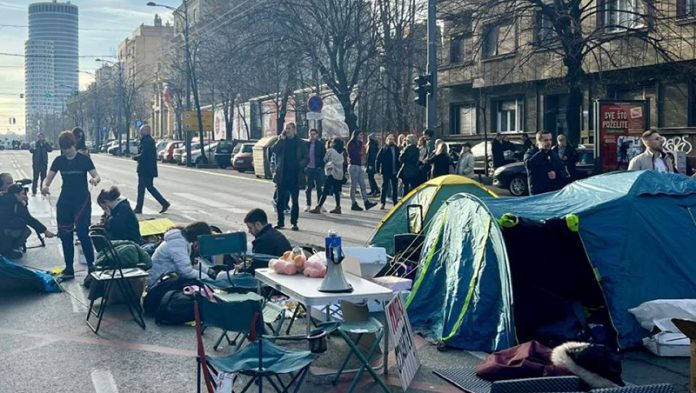
[{"label": "pale grey jacket worn by the person sitting on the ground", "polygon": [[[152,255],[152,269],[147,278],[148,286],[154,284],[164,273],[176,272],[180,277],[198,278],[198,269],[191,263],[191,244],[184,238],[181,229],[170,229],[164,241]],[[208,276],[203,273],[203,278]]]}]

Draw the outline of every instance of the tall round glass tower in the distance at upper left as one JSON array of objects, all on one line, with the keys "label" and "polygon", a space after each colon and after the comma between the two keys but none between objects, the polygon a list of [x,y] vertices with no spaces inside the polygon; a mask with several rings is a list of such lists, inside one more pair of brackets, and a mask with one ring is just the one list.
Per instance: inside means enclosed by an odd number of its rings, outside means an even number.
[{"label": "tall round glass tower in the distance at upper left", "polygon": [[41,119],[60,114],[79,87],[78,8],[57,1],[29,5],[25,43],[26,125],[29,138]]}]

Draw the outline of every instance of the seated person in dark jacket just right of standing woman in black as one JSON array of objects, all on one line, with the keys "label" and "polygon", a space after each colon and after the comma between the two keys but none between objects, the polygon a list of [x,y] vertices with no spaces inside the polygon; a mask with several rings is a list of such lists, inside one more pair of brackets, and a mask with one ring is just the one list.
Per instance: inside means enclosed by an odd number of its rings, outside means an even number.
[{"label": "seated person in dark jacket just right of standing woman in black", "polygon": [[130,240],[142,245],[140,224],[128,199],[121,196],[116,186],[102,190],[97,196],[97,204],[104,210],[104,228],[111,240]]}]

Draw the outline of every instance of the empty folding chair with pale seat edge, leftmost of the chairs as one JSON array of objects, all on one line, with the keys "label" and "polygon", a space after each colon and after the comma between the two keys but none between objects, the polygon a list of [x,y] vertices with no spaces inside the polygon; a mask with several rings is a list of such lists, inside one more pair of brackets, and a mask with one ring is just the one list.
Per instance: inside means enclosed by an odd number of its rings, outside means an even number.
[{"label": "empty folding chair with pale seat edge, leftmost of the chairs", "polygon": [[[133,320],[143,329],[145,329],[145,320],[143,319],[143,308],[140,305],[140,296],[135,293],[133,287],[130,285],[129,279],[144,278],[148,276],[148,273],[141,268],[129,268],[123,269],[123,263],[121,258],[116,252],[113,244],[106,235],[103,229],[94,228],[89,232],[89,237],[92,239],[95,247],[102,249],[102,252],[106,253],[107,258],[111,261],[112,266],[107,269],[97,270],[90,273],[92,277],[93,284],[105,284],[104,294],[101,296],[101,302],[99,303],[99,311],[94,311],[94,302],[97,297],[93,297],[89,302],[89,309],[87,310],[87,326],[95,334],[98,334],[99,327],[101,326],[101,321],[104,318],[104,313],[109,304],[109,297],[111,296],[112,288],[115,287],[121,294],[121,298],[126,303],[128,311],[133,316]],[[90,322],[90,317],[97,317],[96,326]]]}]

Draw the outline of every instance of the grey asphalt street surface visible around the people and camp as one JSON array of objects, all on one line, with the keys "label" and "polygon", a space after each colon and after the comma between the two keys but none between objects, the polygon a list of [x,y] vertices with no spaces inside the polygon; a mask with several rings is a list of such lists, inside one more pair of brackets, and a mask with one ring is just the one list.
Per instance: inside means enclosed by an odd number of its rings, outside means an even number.
[{"label": "grey asphalt street surface visible around the people and camp", "polygon": [[[97,155],[93,157],[103,183],[98,188],[118,185],[134,200],[136,193],[135,163],[126,159]],[[9,171],[15,178],[31,175],[28,152],[0,152],[0,172]],[[55,227],[56,196],[60,181],[52,186],[53,196],[30,200],[32,213],[49,227]],[[172,202],[166,214],[176,223],[206,220],[225,229],[242,227],[242,217],[251,208],[271,209],[273,186],[265,180],[229,170],[198,170],[160,166],[156,180],[160,191]],[[93,192],[93,197],[95,193]],[[344,205],[347,205],[344,198]],[[157,217],[159,206],[146,200],[145,213]],[[93,215],[101,214],[93,206]],[[347,212],[340,217],[321,217],[301,213],[300,232],[286,231],[295,242],[321,244],[329,229],[337,230],[349,244],[364,244],[383,212]],[[96,217],[95,217],[96,218]],[[31,239],[29,245],[36,245]],[[63,265],[56,239],[47,247],[29,250],[19,263],[40,269]],[[191,326],[159,326],[146,318],[147,329],[141,330],[122,306],[112,306],[102,330],[94,335],[84,323],[87,292],[79,284],[86,274],[76,265],[77,279],[66,283],[66,292],[58,294],[3,293],[0,296],[0,392],[33,393],[73,392],[193,392],[196,388],[195,336]],[[295,324],[304,331],[304,322]],[[206,334],[206,348],[212,352],[217,332]],[[449,350],[439,352],[416,337],[421,368],[408,392],[455,393],[458,389],[437,378],[435,369],[473,367],[485,354]],[[300,347],[303,348],[303,347]],[[346,346],[337,337],[329,340],[329,352],[321,355],[315,366],[326,371],[336,369],[346,354]],[[221,351],[230,353],[229,349]],[[214,354],[218,355],[218,354]],[[392,392],[401,387],[393,356],[386,379]],[[674,383],[679,393],[688,391],[688,359],[656,358],[645,351],[626,353],[624,379],[635,384]],[[310,376],[301,392],[345,392],[350,377],[334,386],[330,378]],[[237,388],[240,388],[237,385]],[[363,376],[357,392],[381,392],[369,376]]]}]

